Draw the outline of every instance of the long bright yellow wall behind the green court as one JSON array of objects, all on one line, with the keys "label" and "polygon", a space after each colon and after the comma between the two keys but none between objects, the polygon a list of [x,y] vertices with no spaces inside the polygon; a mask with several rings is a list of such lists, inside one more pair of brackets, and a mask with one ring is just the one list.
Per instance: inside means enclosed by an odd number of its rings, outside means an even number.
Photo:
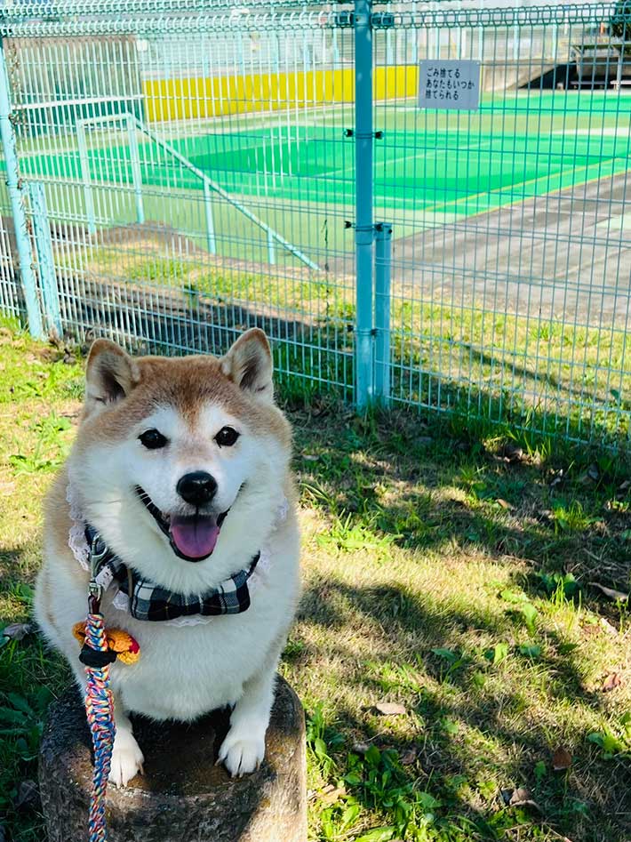
[{"label": "long bright yellow wall behind the green court", "polygon": [[[376,100],[396,100],[417,93],[415,65],[375,68]],[[303,70],[246,76],[191,76],[143,82],[150,122],[268,111],[276,108],[331,105],[355,101],[355,71]]]}]

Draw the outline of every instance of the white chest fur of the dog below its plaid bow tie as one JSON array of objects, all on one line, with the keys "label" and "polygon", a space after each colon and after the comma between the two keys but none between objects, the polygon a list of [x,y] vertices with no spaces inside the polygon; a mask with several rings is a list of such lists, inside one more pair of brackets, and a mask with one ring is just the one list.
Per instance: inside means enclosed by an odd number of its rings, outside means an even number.
[{"label": "white chest fur of the dog below its plaid bow tie", "polygon": [[[129,631],[140,644],[138,662],[113,664],[112,689],[132,710],[156,719],[193,719],[233,704],[244,683],[260,670],[278,638],[286,634],[298,599],[299,535],[293,513],[268,544],[269,563],[255,573],[251,605],[244,613],[212,617],[207,623],[177,626],[170,622],[135,620],[103,599],[108,628]],[[73,559],[52,561],[57,576],[52,587],[52,613],[60,635],[39,621],[48,637],[64,651],[81,680],[84,668],[72,626],[85,617],[87,574]]]}]

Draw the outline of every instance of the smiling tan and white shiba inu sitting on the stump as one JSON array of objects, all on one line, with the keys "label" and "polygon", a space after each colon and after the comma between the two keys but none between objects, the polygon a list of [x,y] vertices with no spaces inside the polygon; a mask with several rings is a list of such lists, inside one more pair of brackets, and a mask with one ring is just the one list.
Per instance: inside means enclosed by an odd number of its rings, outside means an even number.
[{"label": "smiling tan and white shiba inu sitting on the stump", "polygon": [[260,765],[299,594],[290,458],[262,331],[220,358],[92,345],[83,418],[46,504],[36,619],[83,688],[72,629],[96,558],[106,627],[140,646],[110,669],[116,785],[142,770],[131,712],[192,720],[231,705],[219,759],[232,775]]}]

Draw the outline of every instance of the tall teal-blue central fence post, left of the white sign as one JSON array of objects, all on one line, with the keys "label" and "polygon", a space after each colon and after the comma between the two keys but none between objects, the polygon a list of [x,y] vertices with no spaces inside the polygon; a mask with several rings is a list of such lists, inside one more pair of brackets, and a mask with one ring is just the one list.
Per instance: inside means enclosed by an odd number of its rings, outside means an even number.
[{"label": "tall teal-blue central fence post, left of the white sign", "polygon": [[371,0],[355,0],[355,404],[372,397],[372,28]]}]

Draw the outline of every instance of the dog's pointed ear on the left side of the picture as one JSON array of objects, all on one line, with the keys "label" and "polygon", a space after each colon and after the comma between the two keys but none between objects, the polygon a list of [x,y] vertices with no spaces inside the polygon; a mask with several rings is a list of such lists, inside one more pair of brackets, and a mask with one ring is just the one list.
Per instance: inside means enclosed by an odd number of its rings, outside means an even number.
[{"label": "dog's pointed ear on the left side of the picture", "polygon": [[85,371],[86,413],[122,400],[138,381],[140,372],[132,357],[115,342],[98,339],[92,344]]}]

